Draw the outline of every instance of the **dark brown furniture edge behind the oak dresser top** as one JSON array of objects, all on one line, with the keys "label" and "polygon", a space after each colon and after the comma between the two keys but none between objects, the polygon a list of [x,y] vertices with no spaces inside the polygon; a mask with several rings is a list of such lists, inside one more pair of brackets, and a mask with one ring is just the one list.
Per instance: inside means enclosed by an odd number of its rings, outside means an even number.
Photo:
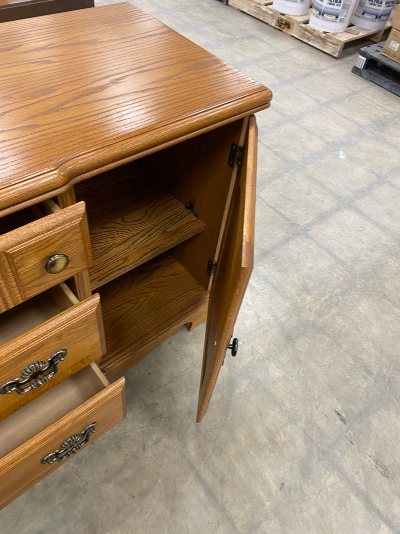
[{"label": "dark brown furniture edge behind the oak dresser top", "polygon": [[94,0],[0,0],[0,22],[94,7]]}]

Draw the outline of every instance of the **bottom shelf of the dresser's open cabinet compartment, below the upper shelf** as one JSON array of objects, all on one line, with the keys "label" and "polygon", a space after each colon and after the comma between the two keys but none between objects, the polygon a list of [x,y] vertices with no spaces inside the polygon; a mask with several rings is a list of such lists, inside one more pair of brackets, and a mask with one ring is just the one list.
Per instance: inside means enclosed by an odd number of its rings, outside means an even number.
[{"label": "bottom shelf of the dresser's open cabinet compartment, below the upper shelf", "polygon": [[138,362],[208,301],[207,291],[169,254],[113,280],[99,293],[107,344],[100,367],[107,375],[120,364],[126,368]]}]

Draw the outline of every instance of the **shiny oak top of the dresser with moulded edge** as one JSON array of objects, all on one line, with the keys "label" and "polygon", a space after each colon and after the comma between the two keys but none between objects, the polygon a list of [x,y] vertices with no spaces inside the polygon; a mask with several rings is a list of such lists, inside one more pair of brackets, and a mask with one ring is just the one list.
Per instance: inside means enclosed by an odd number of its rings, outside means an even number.
[{"label": "shiny oak top of the dresser with moulded edge", "polygon": [[128,3],[0,29],[0,214],[271,99]]}]

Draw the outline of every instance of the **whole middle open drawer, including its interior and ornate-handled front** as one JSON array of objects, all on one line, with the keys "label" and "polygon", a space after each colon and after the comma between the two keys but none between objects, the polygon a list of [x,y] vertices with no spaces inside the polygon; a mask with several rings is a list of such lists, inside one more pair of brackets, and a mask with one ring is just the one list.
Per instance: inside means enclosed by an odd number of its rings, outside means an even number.
[{"label": "whole middle open drawer, including its interior and ornate-handled front", "polygon": [[66,286],[1,315],[0,420],[105,354],[100,297]]}]

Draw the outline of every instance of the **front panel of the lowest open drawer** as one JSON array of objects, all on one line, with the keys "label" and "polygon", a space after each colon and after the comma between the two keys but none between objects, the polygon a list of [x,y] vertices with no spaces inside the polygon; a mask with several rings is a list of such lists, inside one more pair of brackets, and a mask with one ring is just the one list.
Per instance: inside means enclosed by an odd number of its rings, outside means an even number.
[{"label": "front panel of the lowest open drawer", "polygon": [[[125,380],[121,378],[110,384],[0,460],[0,508],[57,469],[68,458],[76,453],[79,454],[84,447],[93,443],[124,418],[124,383]],[[96,423],[94,431],[90,431],[90,428],[93,430],[93,423]],[[90,427],[90,435],[87,442],[83,443],[82,432],[87,427]],[[76,452],[71,451],[74,447],[67,450],[71,440],[77,441],[76,436],[82,437],[81,446],[75,447]],[[65,442],[67,445],[64,451],[70,454],[62,452],[62,444]],[[48,461],[53,460],[54,453],[57,455],[57,452],[60,453],[61,461],[55,459],[49,463]],[[65,458],[61,459],[63,457]]]}]

